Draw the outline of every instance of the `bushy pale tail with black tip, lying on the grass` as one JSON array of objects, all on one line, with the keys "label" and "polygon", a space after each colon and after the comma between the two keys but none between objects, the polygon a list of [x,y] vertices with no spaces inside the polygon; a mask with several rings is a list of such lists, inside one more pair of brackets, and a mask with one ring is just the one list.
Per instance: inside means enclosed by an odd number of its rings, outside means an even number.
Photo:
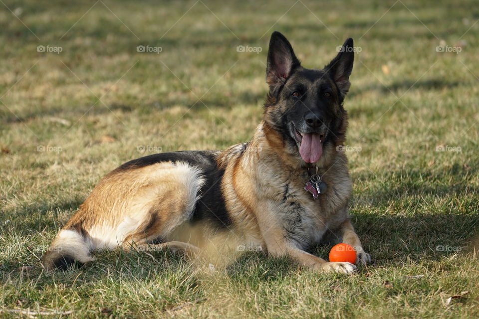
[{"label": "bushy pale tail with black tip, lying on the grass", "polygon": [[81,266],[95,258],[90,256],[91,241],[75,228],[62,229],[56,235],[43,255],[43,267],[66,270],[71,266]]}]

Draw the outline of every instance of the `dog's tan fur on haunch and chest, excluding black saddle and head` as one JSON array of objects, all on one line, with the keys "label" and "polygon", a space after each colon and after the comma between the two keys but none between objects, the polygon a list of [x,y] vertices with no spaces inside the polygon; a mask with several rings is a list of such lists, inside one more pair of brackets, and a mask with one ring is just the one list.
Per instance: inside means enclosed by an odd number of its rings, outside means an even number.
[{"label": "dog's tan fur on haunch and chest, excluding black saddle and head", "polygon": [[[342,241],[356,251],[362,251],[347,212],[351,181],[346,157],[342,152],[326,152],[324,162],[319,173],[328,191],[314,200],[303,189],[307,171],[301,166],[300,158],[288,154],[277,133],[264,123],[259,125],[246,149],[244,145],[237,145],[220,154],[218,164],[225,168],[222,192],[234,224],[231,231],[239,238],[238,242],[264,247],[272,256],[289,255],[314,269],[353,271],[352,265],[327,263],[302,249],[319,243],[326,231],[338,229],[338,238],[342,237]],[[193,190],[192,180],[197,186]],[[277,182],[271,182],[273,180]],[[291,221],[288,208],[284,207],[285,190],[281,181],[289,183],[291,199],[288,202],[302,207],[304,227],[301,230],[294,229],[294,220]],[[98,183],[60,231],[52,247],[61,241],[62,232],[81,229],[87,234],[87,246],[91,249],[173,248],[193,255],[197,253],[196,247],[206,247],[208,238],[214,236],[209,225],[193,228],[184,223],[202,182],[197,168],[181,162],[118,168]],[[294,232],[292,241],[285,240],[288,224]],[[159,236],[165,236],[169,242],[147,244]],[[80,262],[93,260],[84,251],[77,250],[74,255],[80,256]],[[358,261],[366,262],[366,255],[358,254]]]}]

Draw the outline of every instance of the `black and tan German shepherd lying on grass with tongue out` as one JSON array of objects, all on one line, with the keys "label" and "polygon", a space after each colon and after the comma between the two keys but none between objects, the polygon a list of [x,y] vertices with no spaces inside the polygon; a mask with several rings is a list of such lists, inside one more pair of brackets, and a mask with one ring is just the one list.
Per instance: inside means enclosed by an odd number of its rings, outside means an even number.
[{"label": "black and tan German shepherd lying on grass with tongue out", "polygon": [[[271,35],[263,119],[252,140],[226,151],[185,151],[131,160],[108,173],[59,231],[46,269],[93,261],[92,250],[170,249],[196,255],[215,236],[289,256],[319,271],[353,273],[307,251],[326,234],[370,262],[348,213],[344,144],[354,60],[348,38],[322,70],[306,69],[279,32]],[[226,237],[225,237],[226,238]]]}]

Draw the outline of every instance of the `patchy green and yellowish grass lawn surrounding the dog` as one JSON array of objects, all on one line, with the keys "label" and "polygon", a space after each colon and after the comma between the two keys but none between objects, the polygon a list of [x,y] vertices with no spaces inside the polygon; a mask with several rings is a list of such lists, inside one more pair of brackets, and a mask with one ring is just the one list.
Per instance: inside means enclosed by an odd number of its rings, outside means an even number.
[{"label": "patchy green and yellowish grass lawn surrounding the dog", "polygon": [[[0,8],[0,318],[26,318],[6,312],[19,309],[75,318],[479,316],[474,1],[19,0]],[[42,252],[111,169],[251,138],[273,30],[306,67],[321,68],[347,36],[362,49],[345,107],[348,146],[361,148],[348,152],[351,214],[373,264],[325,275],[251,253],[209,273],[169,253],[114,251],[81,270],[43,273]],[[441,43],[461,52],[437,52]],[[316,253],[326,258],[329,248]]]}]

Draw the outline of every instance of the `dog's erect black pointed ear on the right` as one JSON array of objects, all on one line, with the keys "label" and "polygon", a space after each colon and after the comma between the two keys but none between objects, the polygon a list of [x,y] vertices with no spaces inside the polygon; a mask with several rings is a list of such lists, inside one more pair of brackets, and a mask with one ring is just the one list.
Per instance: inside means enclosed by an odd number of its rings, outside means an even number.
[{"label": "dog's erect black pointed ear on the right", "polygon": [[344,97],[349,90],[349,76],[353,70],[354,50],[353,39],[348,38],[342,47],[337,47],[339,53],[329,62],[324,69],[329,73],[331,78],[336,82],[341,97]]}]

